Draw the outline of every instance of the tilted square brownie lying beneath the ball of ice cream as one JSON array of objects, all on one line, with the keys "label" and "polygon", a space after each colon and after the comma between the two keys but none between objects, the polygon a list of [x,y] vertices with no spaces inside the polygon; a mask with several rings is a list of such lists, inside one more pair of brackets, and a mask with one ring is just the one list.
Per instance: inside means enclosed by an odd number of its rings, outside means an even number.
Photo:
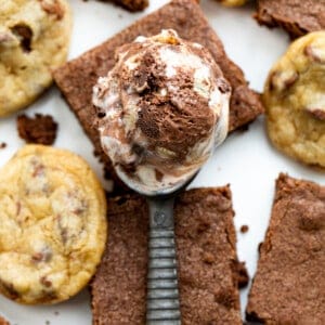
[{"label": "tilted square brownie lying beneath the ball of ice cream", "polygon": [[92,105],[92,87],[100,76],[115,64],[115,50],[133,41],[139,35],[152,36],[164,28],[176,29],[187,40],[207,47],[220,65],[233,91],[231,100],[230,130],[242,128],[263,112],[259,95],[248,88],[243,72],[225,54],[223,46],[206,21],[194,0],[174,0],[158,11],[135,22],[105,43],[68,62],[54,72],[54,79],[72,110],[81,122],[94,144],[95,154],[105,162],[107,176],[117,180],[108,157],[103,153],[98,130],[93,127],[95,109]]}]

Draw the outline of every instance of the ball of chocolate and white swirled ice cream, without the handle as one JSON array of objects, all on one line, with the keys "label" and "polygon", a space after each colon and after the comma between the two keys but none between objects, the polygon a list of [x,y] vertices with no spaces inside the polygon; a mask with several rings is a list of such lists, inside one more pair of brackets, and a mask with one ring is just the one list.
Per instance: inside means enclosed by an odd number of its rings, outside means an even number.
[{"label": "ball of chocolate and white swirled ice cream, without the handle", "polygon": [[102,146],[134,190],[190,178],[227,132],[231,88],[210,53],[173,30],[121,47],[93,90]]}]

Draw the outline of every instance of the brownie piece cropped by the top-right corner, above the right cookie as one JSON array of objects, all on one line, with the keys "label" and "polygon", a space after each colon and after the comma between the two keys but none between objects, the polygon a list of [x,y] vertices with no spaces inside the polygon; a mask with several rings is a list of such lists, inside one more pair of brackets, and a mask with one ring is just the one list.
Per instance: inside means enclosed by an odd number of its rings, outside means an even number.
[{"label": "brownie piece cropped by the top-right corner, above the right cookie", "polygon": [[283,27],[295,38],[325,28],[325,0],[259,0],[255,17],[261,25]]}]

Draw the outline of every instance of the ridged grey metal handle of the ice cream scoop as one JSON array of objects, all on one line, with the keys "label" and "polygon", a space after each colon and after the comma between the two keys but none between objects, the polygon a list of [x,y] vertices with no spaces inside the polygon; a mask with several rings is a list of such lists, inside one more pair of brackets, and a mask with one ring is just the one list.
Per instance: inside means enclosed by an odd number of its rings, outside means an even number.
[{"label": "ridged grey metal handle of the ice cream scoop", "polygon": [[146,297],[147,325],[180,325],[174,244],[174,198],[148,198],[150,242]]}]

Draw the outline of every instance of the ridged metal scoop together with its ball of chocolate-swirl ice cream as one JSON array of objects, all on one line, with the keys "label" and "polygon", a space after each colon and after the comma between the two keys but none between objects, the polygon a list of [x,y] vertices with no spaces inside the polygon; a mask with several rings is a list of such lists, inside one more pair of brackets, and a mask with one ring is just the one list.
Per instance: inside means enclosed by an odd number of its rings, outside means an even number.
[{"label": "ridged metal scoop together with its ball of chocolate-swirl ice cream", "polygon": [[173,199],[225,139],[230,95],[210,53],[173,30],[121,47],[93,89],[102,147],[148,202],[147,324],[181,322]]}]

